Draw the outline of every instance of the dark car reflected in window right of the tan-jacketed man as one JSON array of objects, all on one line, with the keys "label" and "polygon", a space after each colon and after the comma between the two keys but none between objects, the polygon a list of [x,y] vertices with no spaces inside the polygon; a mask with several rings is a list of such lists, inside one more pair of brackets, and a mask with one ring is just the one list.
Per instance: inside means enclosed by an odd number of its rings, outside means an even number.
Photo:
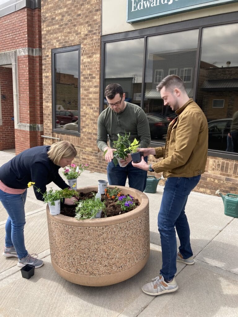
[{"label": "dark car reflected in window right of the tan-jacketed man", "polygon": [[231,118],[208,122],[208,149],[226,151],[231,122]]}]

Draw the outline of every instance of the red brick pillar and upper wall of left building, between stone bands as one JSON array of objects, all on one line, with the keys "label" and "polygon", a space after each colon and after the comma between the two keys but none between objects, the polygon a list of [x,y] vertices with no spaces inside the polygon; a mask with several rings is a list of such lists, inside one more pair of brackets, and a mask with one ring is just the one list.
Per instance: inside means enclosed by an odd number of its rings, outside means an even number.
[{"label": "red brick pillar and upper wall of left building, between stone bands", "polygon": [[[3,16],[0,18],[0,29],[0,52],[23,48],[41,49],[40,9],[23,8]],[[29,124],[43,125],[42,56],[38,56],[37,51],[32,55],[19,55],[17,67],[19,120],[20,123],[26,124],[25,129],[15,130],[18,154],[26,148],[43,145],[43,139],[40,137],[42,132],[27,129]],[[2,134],[0,136],[2,139]]]}]

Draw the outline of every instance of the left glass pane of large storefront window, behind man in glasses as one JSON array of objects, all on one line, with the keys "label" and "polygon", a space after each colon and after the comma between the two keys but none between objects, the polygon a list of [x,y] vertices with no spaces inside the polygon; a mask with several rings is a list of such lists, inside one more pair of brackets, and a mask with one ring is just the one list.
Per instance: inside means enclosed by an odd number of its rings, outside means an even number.
[{"label": "left glass pane of large storefront window, behind man in glasses", "polygon": [[[104,87],[120,84],[125,100],[141,105],[144,39],[107,43],[105,48]],[[107,107],[104,98],[103,109]]]}]

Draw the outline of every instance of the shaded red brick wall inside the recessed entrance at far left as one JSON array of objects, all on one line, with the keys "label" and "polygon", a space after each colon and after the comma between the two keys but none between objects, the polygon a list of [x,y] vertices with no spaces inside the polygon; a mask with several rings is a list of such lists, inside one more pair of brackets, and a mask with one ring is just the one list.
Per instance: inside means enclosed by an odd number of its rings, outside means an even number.
[{"label": "shaded red brick wall inside the recessed entrance at far left", "polygon": [[[0,67],[0,91],[1,91],[1,110],[2,110],[2,125],[0,125],[0,150],[15,148],[15,133],[13,110],[13,87],[12,87],[12,69]],[[2,96],[5,99],[2,99]]]}]

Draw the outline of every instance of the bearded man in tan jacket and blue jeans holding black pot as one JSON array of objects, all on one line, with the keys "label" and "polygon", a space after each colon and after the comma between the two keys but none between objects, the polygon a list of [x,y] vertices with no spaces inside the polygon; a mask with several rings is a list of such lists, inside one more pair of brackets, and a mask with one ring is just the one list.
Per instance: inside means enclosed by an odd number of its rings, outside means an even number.
[{"label": "bearded man in tan jacket and blue jeans holding black pot", "polygon": [[[179,76],[169,75],[157,86],[164,105],[175,111],[177,117],[169,124],[165,146],[142,148],[144,155],[163,158],[147,165],[142,157],[133,166],[145,171],[163,172],[165,182],[158,214],[161,237],[162,268],[159,276],[142,287],[144,293],[160,295],[178,289],[175,281],[176,261],[194,264],[190,245],[190,230],[185,215],[188,195],[198,184],[205,171],[208,152],[208,123],[202,109],[189,99]],[[177,252],[176,233],[180,240]]]}]

